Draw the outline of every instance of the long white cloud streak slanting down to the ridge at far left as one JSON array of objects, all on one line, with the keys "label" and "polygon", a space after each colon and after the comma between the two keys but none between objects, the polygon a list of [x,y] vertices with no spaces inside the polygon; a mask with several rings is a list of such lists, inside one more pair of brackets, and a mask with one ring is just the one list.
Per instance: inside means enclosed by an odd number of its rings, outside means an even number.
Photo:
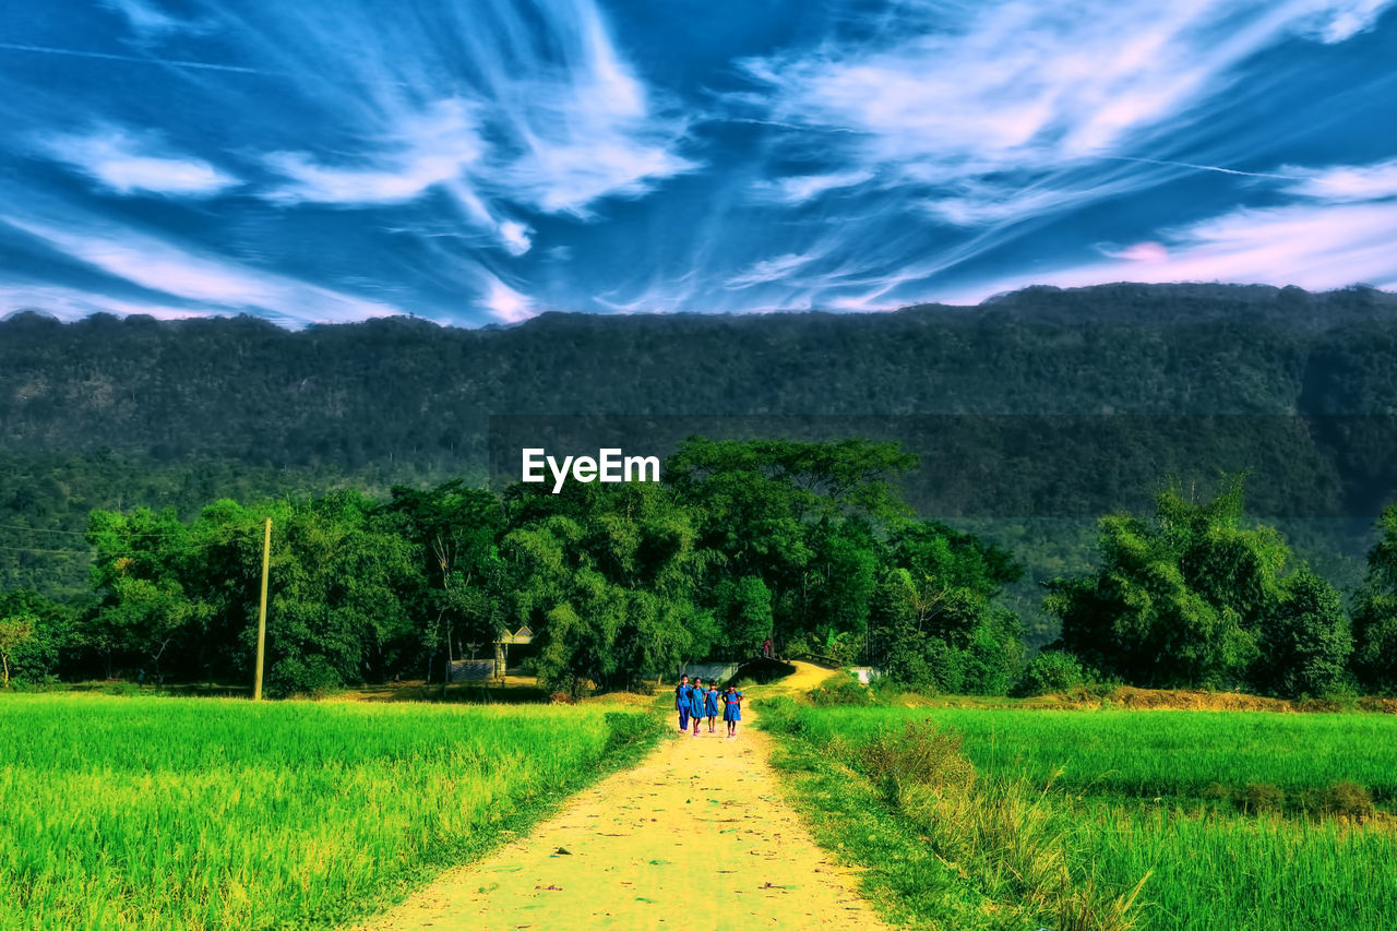
[{"label": "long white cloud streak slanting down to the ridge at far left", "polygon": [[210,309],[263,312],[299,323],[401,313],[377,301],[250,268],[124,226],[21,217],[0,217],[0,221],[115,278]]}]

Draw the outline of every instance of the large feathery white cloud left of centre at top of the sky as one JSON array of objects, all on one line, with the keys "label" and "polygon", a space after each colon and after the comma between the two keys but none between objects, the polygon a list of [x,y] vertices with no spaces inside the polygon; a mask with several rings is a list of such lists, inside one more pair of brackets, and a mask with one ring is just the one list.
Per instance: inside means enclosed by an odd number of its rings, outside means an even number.
[{"label": "large feathery white cloud left of centre at top of the sky", "polygon": [[[517,256],[532,242],[522,222],[504,218],[518,208],[590,217],[602,199],[636,197],[697,168],[679,152],[687,120],[661,112],[592,0],[543,0],[532,13],[507,0],[455,3],[444,13],[460,28],[450,42],[397,22],[372,36],[307,22],[275,45],[260,39],[263,57],[309,45],[319,46],[310,57],[353,63],[337,91],[320,92],[320,75],[300,84],[362,140],[334,155],[271,152],[265,165],[285,183],[270,200],[397,204],[443,190],[464,222],[492,229]],[[518,41],[536,21],[546,41]],[[461,59],[472,78],[443,82]],[[355,87],[360,95],[345,94]]]}]

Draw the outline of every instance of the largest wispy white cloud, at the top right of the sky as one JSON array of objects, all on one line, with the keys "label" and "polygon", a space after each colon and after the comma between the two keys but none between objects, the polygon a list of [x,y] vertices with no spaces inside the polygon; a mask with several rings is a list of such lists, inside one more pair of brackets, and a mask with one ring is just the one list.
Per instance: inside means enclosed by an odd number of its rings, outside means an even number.
[{"label": "largest wispy white cloud, at the top right of the sky", "polygon": [[1391,1],[907,0],[886,34],[745,62],[761,91],[732,101],[842,130],[852,171],[901,178],[951,222],[1014,222],[1168,178],[1104,185],[1090,159],[1176,141],[1257,52],[1343,41]]}]

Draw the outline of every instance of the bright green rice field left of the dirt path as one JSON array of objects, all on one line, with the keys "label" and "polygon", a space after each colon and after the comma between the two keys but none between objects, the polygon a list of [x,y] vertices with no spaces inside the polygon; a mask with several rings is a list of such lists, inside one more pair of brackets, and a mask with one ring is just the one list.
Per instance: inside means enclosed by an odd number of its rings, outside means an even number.
[{"label": "bright green rice field left of the dirt path", "polygon": [[323,927],[645,742],[590,709],[0,700],[0,928]]}]

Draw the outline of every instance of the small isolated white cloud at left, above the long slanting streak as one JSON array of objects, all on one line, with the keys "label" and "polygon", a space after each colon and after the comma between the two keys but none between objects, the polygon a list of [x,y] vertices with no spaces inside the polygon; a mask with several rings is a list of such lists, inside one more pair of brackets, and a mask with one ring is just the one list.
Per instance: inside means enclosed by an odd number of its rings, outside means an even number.
[{"label": "small isolated white cloud at left, above the long slanting streak", "polygon": [[170,151],[158,137],[115,126],[85,134],[49,134],[39,148],[117,194],[212,197],[242,182],[203,158]]}]

